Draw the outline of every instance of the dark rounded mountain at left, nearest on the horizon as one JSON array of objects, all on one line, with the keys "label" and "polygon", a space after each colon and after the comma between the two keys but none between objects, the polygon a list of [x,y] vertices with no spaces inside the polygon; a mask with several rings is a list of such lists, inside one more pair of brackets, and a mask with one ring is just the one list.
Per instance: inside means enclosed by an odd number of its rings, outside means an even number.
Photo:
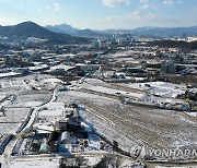
[{"label": "dark rounded mountain at left, nearest on the horizon", "polygon": [[10,38],[23,38],[28,37],[48,39],[48,43],[84,43],[88,41],[85,38],[72,37],[67,34],[58,34],[50,32],[34,22],[23,22],[13,26],[0,26],[0,36]]}]

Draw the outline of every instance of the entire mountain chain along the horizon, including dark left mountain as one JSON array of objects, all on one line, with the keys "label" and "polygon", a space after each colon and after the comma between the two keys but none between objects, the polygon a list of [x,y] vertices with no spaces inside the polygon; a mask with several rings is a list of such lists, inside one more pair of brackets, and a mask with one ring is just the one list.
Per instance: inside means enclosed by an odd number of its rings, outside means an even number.
[{"label": "entire mountain chain along the horizon, including dark left mountain", "polygon": [[55,26],[46,26],[46,28],[33,22],[23,22],[13,26],[0,26],[0,36],[12,37],[12,38],[24,38],[24,39],[28,37],[36,37],[36,38],[48,39],[48,43],[54,43],[54,44],[86,43],[88,39],[84,37],[108,36],[116,32],[130,32],[134,35],[157,36],[157,37],[197,36],[197,26],[175,27],[175,28],[138,27],[134,29],[92,31],[89,28],[78,29],[78,28],[73,28],[68,24],[61,24]]}]

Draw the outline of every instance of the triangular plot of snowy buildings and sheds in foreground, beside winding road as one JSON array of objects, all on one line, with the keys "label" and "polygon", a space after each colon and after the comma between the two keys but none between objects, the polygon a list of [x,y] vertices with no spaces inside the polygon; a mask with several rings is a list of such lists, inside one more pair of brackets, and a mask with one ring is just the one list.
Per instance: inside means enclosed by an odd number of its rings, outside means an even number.
[{"label": "triangular plot of snowy buildings and sheds in foreground, beside winding road", "polygon": [[12,155],[71,155],[113,151],[81,118],[80,108],[74,101],[65,105],[61,110],[58,106],[62,105],[53,105],[38,111],[33,128],[23,132],[12,149]]}]

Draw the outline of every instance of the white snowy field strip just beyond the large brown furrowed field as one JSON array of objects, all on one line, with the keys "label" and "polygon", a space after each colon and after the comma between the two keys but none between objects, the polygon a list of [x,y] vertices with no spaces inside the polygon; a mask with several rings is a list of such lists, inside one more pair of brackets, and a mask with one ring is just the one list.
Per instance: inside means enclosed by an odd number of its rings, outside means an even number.
[{"label": "white snowy field strip just beyond the large brown furrowed field", "polygon": [[125,97],[131,99],[131,101],[138,100],[142,104],[151,104],[159,107],[163,107],[167,104],[167,108],[178,104],[185,104],[185,100],[177,98],[177,96],[185,94],[186,91],[186,86],[165,82],[116,84],[115,87],[114,85],[92,79],[77,84],[76,91],[80,88],[86,89],[88,92],[91,91],[116,97]]}]

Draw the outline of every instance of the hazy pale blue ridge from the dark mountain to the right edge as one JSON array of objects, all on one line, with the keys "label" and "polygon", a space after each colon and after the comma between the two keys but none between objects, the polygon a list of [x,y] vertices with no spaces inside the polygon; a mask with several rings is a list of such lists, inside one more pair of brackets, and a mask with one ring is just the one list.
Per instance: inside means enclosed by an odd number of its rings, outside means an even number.
[{"label": "hazy pale blue ridge from the dark mountain to the right edge", "polygon": [[134,29],[78,29],[73,28],[68,24],[55,25],[55,26],[46,26],[47,29],[56,33],[63,33],[80,37],[100,37],[112,35],[114,33],[119,32],[129,32],[134,35],[144,35],[152,37],[184,37],[184,36],[196,36],[197,35],[197,26],[193,27],[138,27]]}]

